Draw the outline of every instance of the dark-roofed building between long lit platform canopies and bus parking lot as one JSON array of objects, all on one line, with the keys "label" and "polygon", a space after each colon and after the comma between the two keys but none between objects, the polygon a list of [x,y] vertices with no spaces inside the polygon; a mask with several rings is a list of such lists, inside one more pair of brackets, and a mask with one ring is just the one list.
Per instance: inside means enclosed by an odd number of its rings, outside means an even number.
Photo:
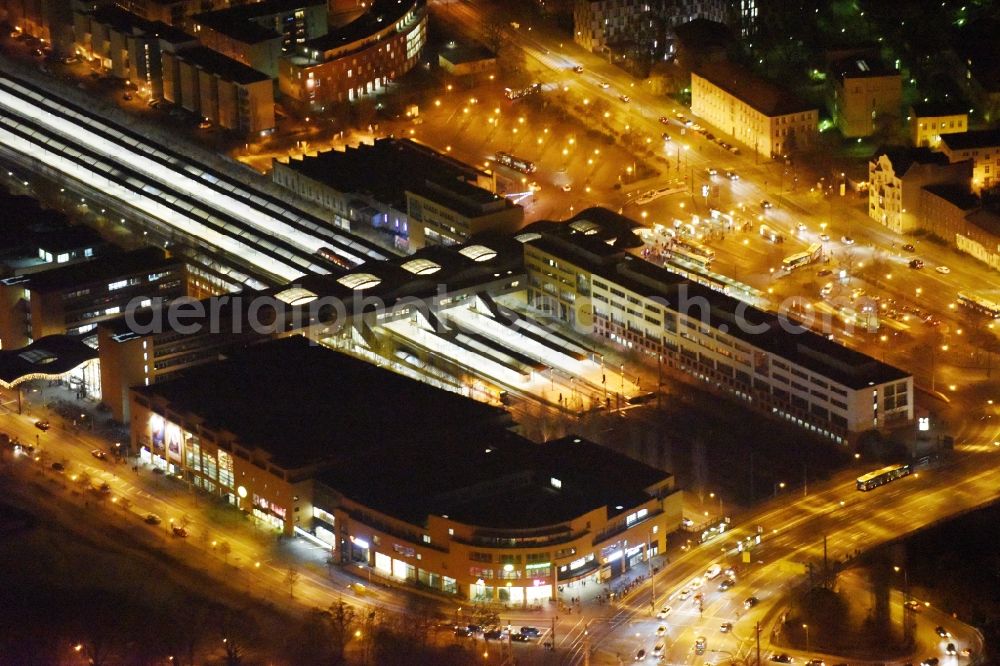
[{"label": "dark-roofed building between long lit platform canopies and bus parking lot", "polygon": [[523,208],[494,193],[491,174],[409,139],[275,161],[272,178],[329,210],[335,225],[374,228],[407,251],[514,231],[524,217]]}]

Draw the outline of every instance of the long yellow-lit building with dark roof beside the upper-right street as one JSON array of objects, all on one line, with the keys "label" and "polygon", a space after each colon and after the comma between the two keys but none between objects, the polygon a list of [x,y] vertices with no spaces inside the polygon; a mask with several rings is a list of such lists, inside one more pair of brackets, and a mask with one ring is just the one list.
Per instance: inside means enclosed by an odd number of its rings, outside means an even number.
[{"label": "long yellow-lit building with dark roof beside the upper-right street", "polygon": [[809,148],[819,132],[815,107],[728,62],[692,72],[691,113],[768,158]]}]

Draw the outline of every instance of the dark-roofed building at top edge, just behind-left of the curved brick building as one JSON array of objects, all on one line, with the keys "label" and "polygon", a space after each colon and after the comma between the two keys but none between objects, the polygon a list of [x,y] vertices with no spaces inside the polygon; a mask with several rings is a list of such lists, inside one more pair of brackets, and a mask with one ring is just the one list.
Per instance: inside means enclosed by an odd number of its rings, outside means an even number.
[{"label": "dark-roofed building at top edge, just behind-left of the curved brick building", "polygon": [[190,24],[204,46],[277,79],[282,53],[327,33],[327,5],[264,0],[197,14]]}]

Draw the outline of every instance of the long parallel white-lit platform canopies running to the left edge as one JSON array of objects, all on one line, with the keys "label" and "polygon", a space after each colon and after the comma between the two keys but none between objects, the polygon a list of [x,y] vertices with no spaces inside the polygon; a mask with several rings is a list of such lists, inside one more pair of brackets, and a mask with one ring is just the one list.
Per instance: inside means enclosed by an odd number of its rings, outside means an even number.
[{"label": "long parallel white-lit platform canopies running to the left edge", "polygon": [[318,217],[10,76],[0,77],[0,138],[6,150],[141,210],[265,282],[386,257]]}]

